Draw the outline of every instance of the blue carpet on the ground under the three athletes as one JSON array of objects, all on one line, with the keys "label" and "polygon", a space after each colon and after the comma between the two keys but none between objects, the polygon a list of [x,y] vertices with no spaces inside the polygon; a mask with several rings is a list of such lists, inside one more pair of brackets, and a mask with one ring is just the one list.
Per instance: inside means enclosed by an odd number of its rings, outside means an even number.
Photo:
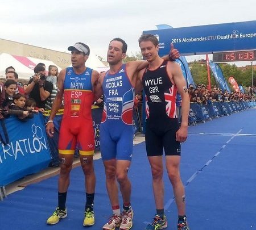
[{"label": "blue carpet on the ground under the three athletes", "polygon": [[[256,110],[189,127],[189,133],[256,134]],[[242,130],[241,130],[242,129]],[[191,134],[181,147],[181,178],[185,185],[187,216],[191,230],[256,229],[256,137]],[[94,161],[96,224],[101,229],[112,215],[105,189],[101,160]],[[132,205],[135,230],[144,229],[155,214],[151,172],[144,143],[134,146],[129,170],[132,182]],[[84,175],[81,168],[71,172],[68,190],[68,217],[54,226],[46,219],[56,208],[57,176],[27,186],[0,202],[0,229],[85,229],[82,227],[85,204]],[[165,204],[168,230],[176,229],[177,210],[166,173]],[[120,196],[120,201],[121,196]],[[122,202],[120,202],[122,203]]]}]

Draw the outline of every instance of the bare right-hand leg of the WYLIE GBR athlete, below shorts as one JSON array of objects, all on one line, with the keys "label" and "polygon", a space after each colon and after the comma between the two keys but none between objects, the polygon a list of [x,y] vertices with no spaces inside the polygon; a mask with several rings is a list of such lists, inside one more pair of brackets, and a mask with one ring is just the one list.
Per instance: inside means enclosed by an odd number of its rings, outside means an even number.
[{"label": "bare right-hand leg of the WYLIE GBR athlete, below shorts", "polygon": [[166,156],[168,177],[174,189],[175,202],[180,216],[185,215],[185,191],[180,178],[180,156]]}]

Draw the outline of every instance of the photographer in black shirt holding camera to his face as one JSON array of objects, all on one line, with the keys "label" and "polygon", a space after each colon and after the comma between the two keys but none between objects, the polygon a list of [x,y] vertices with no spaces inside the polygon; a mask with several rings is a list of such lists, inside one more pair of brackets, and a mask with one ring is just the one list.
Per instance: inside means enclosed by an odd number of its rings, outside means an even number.
[{"label": "photographer in black shirt holding camera to his face", "polygon": [[46,81],[45,71],[44,66],[36,65],[34,69],[35,74],[28,82],[25,90],[29,94],[29,98],[33,98],[36,106],[39,108],[45,107],[46,99],[51,95],[53,88],[52,83]]}]

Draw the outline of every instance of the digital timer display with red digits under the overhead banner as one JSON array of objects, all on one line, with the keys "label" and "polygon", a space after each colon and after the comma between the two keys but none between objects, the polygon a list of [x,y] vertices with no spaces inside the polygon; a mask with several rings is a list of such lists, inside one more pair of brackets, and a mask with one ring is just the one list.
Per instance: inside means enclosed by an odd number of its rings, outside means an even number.
[{"label": "digital timer display with red digits under the overhead banner", "polygon": [[234,51],[213,53],[213,62],[255,61],[256,51]]}]

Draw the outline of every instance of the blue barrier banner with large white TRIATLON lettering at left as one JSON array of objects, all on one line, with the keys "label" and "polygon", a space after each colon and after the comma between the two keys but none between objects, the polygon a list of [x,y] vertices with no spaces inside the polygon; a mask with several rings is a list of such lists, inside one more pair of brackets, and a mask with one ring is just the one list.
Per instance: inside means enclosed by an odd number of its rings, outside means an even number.
[{"label": "blue barrier banner with large white TRIATLON lettering at left", "polygon": [[51,160],[42,114],[27,122],[11,116],[5,125],[10,141],[0,143],[0,186],[47,168]]}]

